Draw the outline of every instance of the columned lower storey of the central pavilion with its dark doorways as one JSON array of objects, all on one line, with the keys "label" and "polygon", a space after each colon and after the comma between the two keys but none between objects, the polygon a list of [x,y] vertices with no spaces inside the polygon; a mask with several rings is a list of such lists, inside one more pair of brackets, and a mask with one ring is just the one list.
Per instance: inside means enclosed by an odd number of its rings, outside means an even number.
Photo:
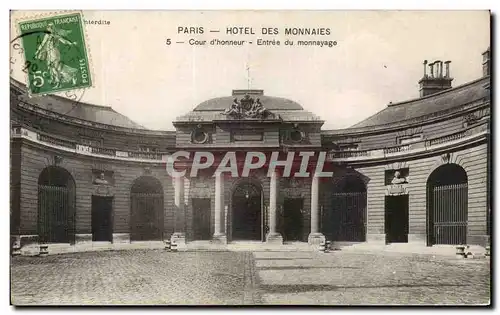
[{"label": "columned lower storey of the central pavilion with its dark doorways", "polygon": [[[212,176],[175,178],[174,238],[181,243],[207,240],[196,233],[201,229],[210,231],[209,239],[215,244],[234,241],[319,244],[324,236],[319,230],[317,174],[285,178],[275,170],[270,177],[266,175],[263,169],[249,177],[232,178],[214,171]],[[294,187],[287,182],[293,182]],[[204,194],[200,194],[201,189]],[[195,206],[201,199],[206,200],[207,209]],[[199,218],[205,216],[211,219]]]}]

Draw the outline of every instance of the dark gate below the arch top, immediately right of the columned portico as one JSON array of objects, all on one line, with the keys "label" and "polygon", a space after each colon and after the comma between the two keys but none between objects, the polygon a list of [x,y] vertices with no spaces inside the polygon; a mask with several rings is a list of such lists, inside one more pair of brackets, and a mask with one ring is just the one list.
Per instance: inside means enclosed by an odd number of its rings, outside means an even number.
[{"label": "dark gate below the arch top, immediately right of the columned portico", "polygon": [[332,240],[364,242],[366,240],[366,192],[332,194],[328,220]]}]

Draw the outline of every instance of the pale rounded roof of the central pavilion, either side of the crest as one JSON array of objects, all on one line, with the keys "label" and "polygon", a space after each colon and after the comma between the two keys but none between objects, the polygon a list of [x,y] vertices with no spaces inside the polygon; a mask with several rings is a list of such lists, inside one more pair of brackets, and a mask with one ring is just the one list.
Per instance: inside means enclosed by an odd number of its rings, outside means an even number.
[{"label": "pale rounded roof of the central pavilion, either side of the crest", "polygon": [[[269,110],[303,110],[304,108],[299,105],[299,103],[294,102],[292,100],[282,98],[282,97],[274,97],[274,96],[266,96],[266,95],[251,95],[254,99],[259,98],[262,105]],[[233,100],[241,98],[238,96],[223,96],[216,97],[209,100],[206,100],[196,106],[193,111],[223,111],[226,108],[230,107],[233,104]]]}]

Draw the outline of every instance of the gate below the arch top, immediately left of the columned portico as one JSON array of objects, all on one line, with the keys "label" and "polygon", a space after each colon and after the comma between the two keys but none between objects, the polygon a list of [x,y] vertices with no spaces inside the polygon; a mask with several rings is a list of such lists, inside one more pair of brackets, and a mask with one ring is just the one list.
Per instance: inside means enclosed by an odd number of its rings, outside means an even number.
[{"label": "gate below the arch top, immediately left of the columned portico", "polygon": [[131,240],[161,240],[163,230],[163,194],[132,193],[131,206]]}]

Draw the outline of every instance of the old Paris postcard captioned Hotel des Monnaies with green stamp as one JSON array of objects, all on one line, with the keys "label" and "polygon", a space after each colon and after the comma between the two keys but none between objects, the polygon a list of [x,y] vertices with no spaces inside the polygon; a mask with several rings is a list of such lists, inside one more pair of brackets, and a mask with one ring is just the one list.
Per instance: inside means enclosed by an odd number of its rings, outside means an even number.
[{"label": "old Paris postcard captioned Hotel des Monnaies with green stamp", "polygon": [[11,304],[491,304],[489,11],[11,11]]}]

